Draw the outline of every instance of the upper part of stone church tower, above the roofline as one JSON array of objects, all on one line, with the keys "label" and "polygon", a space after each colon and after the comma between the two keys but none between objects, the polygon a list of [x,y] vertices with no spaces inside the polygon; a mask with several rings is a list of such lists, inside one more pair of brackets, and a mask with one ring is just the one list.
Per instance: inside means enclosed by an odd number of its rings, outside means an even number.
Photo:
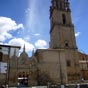
[{"label": "upper part of stone church tower, above the roofline", "polygon": [[68,0],[52,0],[50,25],[50,48],[77,48]]}]

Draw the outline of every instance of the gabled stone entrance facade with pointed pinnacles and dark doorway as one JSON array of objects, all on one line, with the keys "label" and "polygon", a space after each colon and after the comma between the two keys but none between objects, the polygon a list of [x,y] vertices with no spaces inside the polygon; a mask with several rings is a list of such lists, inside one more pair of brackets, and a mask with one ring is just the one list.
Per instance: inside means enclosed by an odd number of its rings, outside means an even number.
[{"label": "gabled stone entrance facade with pointed pinnacles and dark doorway", "polygon": [[23,81],[23,84],[27,81],[26,85],[28,86],[37,85],[36,62],[34,58],[31,59],[28,57],[28,54],[25,52],[25,47],[18,58],[15,57],[15,59],[13,59],[13,57],[10,60],[12,62],[10,62],[9,69],[9,85],[16,86],[17,83],[20,84],[23,77],[26,78],[25,81]]}]

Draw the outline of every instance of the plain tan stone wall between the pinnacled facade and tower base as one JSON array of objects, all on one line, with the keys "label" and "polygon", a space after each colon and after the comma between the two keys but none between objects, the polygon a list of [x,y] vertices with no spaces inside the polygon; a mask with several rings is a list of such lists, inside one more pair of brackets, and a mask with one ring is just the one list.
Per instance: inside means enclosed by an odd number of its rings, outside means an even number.
[{"label": "plain tan stone wall between the pinnacled facade and tower base", "polygon": [[65,51],[62,49],[39,49],[36,51],[39,74],[47,74],[49,78],[45,81],[46,85],[48,82],[53,84],[67,82],[67,68],[64,52]]}]

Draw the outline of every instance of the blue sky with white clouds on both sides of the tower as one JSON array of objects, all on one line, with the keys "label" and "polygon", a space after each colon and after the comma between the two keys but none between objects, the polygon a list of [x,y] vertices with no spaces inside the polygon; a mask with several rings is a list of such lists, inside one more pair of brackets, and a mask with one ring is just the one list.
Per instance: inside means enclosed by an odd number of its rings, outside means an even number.
[{"label": "blue sky with white clouds on both sides of the tower", "polygon": [[[88,0],[69,0],[79,51],[88,54]],[[0,44],[48,48],[51,0],[0,0]]]}]

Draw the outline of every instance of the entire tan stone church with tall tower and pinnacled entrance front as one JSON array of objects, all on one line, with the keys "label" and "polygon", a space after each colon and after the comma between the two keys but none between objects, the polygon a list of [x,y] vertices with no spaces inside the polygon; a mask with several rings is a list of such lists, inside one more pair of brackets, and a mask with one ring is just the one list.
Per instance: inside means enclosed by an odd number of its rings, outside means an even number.
[{"label": "entire tan stone church with tall tower and pinnacled entrance front", "polygon": [[[78,51],[69,0],[51,0],[50,43],[48,49],[15,51],[9,61],[8,84],[43,86],[79,83],[88,80],[88,55]],[[5,77],[3,77],[3,80]],[[4,81],[3,81],[4,82]]]}]

